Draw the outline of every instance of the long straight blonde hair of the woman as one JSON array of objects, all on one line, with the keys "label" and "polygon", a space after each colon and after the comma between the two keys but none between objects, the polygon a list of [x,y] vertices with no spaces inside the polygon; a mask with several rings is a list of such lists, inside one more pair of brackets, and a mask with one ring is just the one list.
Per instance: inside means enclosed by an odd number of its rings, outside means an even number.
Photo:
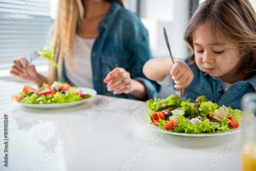
[{"label": "long straight blonde hair of the woman", "polygon": [[[107,0],[110,3],[117,2],[124,7],[123,0]],[[54,61],[60,66],[58,77],[61,78],[63,60],[71,63],[74,48],[74,36],[77,24],[84,17],[82,0],[60,0],[55,21],[54,33],[51,39],[51,47],[54,49]],[[49,65],[48,83],[57,80],[56,68]]]}]

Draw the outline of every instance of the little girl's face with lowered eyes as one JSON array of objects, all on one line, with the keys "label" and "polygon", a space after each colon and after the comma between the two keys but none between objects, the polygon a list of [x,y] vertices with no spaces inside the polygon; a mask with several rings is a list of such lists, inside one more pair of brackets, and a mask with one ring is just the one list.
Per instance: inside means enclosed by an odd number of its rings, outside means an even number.
[{"label": "little girl's face with lowered eyes", "polygon": [[192,38],[196,64],[201,71],[213,77],[221,77],[222,80],[237,75],[242,58],[236,45],[222,34],[217,44],[207,25],[200,26]]}]

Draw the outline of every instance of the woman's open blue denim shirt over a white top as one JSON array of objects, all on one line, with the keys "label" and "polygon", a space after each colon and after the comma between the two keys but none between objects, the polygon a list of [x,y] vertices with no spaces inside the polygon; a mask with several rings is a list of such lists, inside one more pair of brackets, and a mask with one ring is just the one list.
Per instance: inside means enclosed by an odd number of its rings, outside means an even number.
[{"label": "woman's open blue denim shirt over a white top", "polygon": [[[92,69],[94,89],[98,94],[131,98],[126,94],[113,94],[106,88],[103,79],[116,67],[124,68],[131,78],[145,86],[146,99],[158,96],[159,84],[148,80],[142,73],[144,63],[152,58],[148,33],[139,17],[119,4],[113,3],[106,16],[98,26],[99,35],[92,49]],[[62,69],[63,82],[70,82]],[[73,85],[74,86],[74,85]],[[144,99],[144,100],[146,100]]]}]

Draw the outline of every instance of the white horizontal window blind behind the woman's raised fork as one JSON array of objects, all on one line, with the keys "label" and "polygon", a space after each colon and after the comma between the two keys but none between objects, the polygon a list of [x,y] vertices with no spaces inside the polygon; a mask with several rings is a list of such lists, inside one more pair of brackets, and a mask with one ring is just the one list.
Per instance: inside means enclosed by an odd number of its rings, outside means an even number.
[{"label": "white horizontal window blind behind the woman's raised fork", "polygon": [[[52,22],[49,0],[0,0],[0,70],[19,55],[29,60],[32,51],[47,45]],[[39,57],[37,63],[48,62]]]}]

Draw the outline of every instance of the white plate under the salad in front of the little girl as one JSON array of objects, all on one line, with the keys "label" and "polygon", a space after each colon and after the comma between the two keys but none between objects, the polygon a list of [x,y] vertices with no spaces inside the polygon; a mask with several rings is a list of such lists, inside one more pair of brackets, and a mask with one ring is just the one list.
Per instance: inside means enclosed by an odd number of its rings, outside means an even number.
[{"label": "white plate under the salad in front of the little girl", "polygon": [[147,109],[147,107],[142,107],[136,110],[133,113],[133,120],[137,122],[138,124],[148,127],[151,130],[158,131],[161,133],[165,134],[172,134],[172,135],[177,135],[177,136],[183,136],[183,137],[211,137],[211,136],[222,136],[222,135],[227,135],[227,134],[232,134],[232,133],[237,133],[242,130],[241,125],[237,129],[232,129],[229,132],[221,132],[221,133],[216,133],[216,134],[184,134],[184,133],[173,133],[173,132],[168,132],[168,131],[163,131],[159,129],[158,126],[153,125],[149,122],[146,121],[147,118],[147,113],[152,113],[154,111]]}]

